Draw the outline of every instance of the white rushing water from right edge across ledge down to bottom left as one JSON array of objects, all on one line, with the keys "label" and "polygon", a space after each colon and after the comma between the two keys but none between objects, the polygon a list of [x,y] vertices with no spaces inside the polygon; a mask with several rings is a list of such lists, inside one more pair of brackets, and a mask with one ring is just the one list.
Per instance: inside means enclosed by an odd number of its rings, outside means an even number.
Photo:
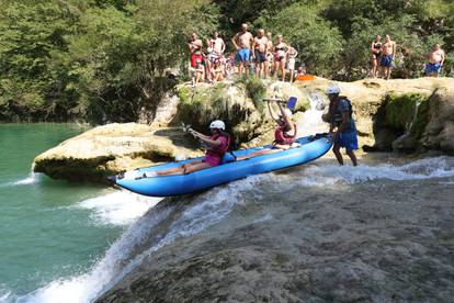
[{"label": "white rushing water from right edge across ledge down to bottom left", "polygon": [[[337,165],[317,164],[308,165],[304,169],[290,176],[279,176],[279,178],[281,177],[285,177],[283,180],[287,180],[287,178],[293,180],[292,182],[287,182],[287,184],[303,184],[308,187],[325,187],[334,183],[354,184],[376,179],[400,181],[454,177],[454,158],[428,158],[401,166],[384,164],[376,166],[360,165],[359,167],[339,167]],[[296,181],[295,177],[297,178]],[[235,205],[245,203],[243,197],[260,195],[257,189],[259,182],[274,184],[276,183],[276,178],[274,173],[268,173],[215,188],[201,194],[196,203],[184,205],[180,213],[175,212],[177,206],[173,204],[169,205],[167,203],[164,206],[158,204],[146,216],[134,223],[111,246],[104,258],[89,273],[67,280],[54,281],[21,298],[18,302],[90,302],[103,293],[104,290],[107,290],[111,285],[122,280],[159,248],[173,243],[178,238],[201,233],[207,227],[218,223],[231,212]],[[125,202],[136,201],[135,195],[128,195],[124,192],[114,193],[111,198],[114,198],[111,200],[117,199],[118,201]],[[103,205],[104,203],[97,202],[97,199],[91,199],[81,202],[81,204],[97,210],[94,205]],[[112,213],[115,214],[116,211]],[[172,214],[171,217],[170,214]],[[100,217],[103,220],[102,215]],[[115,215],[112,217],[115,217]],[[258,222],[270,218],[272,217],[263,214],[262,217],[258,218]],[[167,232],[159,231],[159,235],[157,235],[154,227],[166,220],[172,220],[170,226],[167,228]],[[107,220],[107,222],[110,221]],[[154,238],[152,243],[150,243],[149,238]],[[144,245],[148,248],[145,250],[139,249]]]}]

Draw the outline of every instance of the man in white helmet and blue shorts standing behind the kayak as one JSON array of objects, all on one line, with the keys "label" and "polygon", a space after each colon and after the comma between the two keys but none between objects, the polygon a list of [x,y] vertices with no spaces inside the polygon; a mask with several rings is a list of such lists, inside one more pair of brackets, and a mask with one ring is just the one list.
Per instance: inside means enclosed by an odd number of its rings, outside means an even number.
[{"label": "man in white helmet and blue shorts standing behind the kayak", "polygon": [[[353,162],[353,166],[357,165],[354,150],[357,149],[357,134],[354,120],[352,117],[352,104],[347,97],[339,96],[340,89],[337,86],[332,86],[326,90],[329,99],[329,114],[330,114],[330,127],[334,146],[332,152],[336,155],[340,165],[343,165],[343,158],[340,153],[340,148],[344,147],[347,155]],[[333,132],[336,128],[336,132]]]}]

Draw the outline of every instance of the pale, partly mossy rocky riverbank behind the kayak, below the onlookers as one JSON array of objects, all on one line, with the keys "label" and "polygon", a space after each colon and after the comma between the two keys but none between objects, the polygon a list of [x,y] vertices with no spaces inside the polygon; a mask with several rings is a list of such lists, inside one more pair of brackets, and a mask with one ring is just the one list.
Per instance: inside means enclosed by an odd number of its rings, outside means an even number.
[{"label": "pale, partly mossy rocky riverbank behind the kayak, below the onlookers", "polygon": [[[36,157],[34,170],[52,178],[102,181],[120,171],[201,155],[197,143],[178,128],[181,122],[205,132],[212,120],[223,119],[235,147],[261,145],[272,141],[274,127],[263,98],[296,96],[296,110],[304,112],[314,96],[326,105],[324,91],[331,83],[317,78],[294,86],[258,79],[196,89],[182,85],[161,101],[152,121],[144,115],[150,125],[97,127]],[[364,150],[454,154],[454,79],[365,79],[338,85],[352,100]],[[294,120],[298,119],[297,113]]]}]

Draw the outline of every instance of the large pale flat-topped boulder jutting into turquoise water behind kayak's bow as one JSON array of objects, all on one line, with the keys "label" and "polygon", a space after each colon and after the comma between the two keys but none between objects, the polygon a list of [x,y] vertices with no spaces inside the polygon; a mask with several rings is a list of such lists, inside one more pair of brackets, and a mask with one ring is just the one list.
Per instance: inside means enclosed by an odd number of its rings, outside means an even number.
[{"label": "large pale flat-topped boulder jutting into turquoise water behind kayak's bow", "polygon": [[179,130],[109,124],[90,130],[41,154],[34,171],[55,179],[103,181],[106,176],[175,157],[195,157],[191,139]]}]

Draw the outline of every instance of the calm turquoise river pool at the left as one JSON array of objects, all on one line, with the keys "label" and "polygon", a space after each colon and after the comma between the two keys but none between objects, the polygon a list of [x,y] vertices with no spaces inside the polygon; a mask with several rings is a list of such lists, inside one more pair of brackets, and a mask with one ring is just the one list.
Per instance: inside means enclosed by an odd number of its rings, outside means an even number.
[{"label": "calm turquoise river pool at the left", "polygon": [[111,190],[31,175],[36,155],[83,131],[0,124],[0,301],[87,272],[124,229],[80,204]]}]

